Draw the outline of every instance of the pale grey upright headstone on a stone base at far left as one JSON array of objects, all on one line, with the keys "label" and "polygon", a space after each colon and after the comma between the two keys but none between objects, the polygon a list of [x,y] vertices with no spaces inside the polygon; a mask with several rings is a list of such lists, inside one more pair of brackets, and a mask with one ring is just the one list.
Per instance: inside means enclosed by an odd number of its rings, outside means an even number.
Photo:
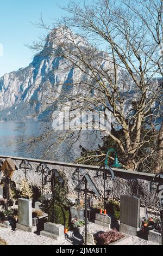
[{"label": "pale grey upright headstone on a stone base at far left", "polygon": [[18,223],[17,229],[28,232],[35,232],[37,227],[32,225],[32,201],[28,199],[18,199]]}]

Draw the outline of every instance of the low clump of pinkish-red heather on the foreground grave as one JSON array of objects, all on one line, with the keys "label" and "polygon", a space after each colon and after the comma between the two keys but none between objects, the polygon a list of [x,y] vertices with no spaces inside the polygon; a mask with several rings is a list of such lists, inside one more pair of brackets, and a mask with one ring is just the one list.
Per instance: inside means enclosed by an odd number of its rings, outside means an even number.
[{"label": "low clump of pinkish-red heather on the foreground grave", "polygon": [[111,230],[108,232],[103,232],[95,236],[95,240],[97,245],[110,245],[117,240],[122,239],[124,237],[120,232],[116,230]]}]

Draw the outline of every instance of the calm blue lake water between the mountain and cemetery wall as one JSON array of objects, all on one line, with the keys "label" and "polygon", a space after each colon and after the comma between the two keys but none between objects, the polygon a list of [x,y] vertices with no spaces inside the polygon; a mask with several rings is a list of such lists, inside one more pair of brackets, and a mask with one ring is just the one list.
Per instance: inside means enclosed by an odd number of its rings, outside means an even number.
[{"label": "calm blue lake water between the mountain and cemetery wall", "polygon": [[[64,136],[64,132],[48,135],[51,130],[51,123],[0,122],[0,155],[73,162],[80,156],[81,145],[93,150],[102,143],[98,132],[92,135],[92,132],[83,131],[78,141],[77,135],[74,135],[74,138],[58,144],[58,138]],[[37,140],[38,136],[45,133],[47,135],[44,139],[42,136]],[[73,143],[73,140],[76,142]]]}]

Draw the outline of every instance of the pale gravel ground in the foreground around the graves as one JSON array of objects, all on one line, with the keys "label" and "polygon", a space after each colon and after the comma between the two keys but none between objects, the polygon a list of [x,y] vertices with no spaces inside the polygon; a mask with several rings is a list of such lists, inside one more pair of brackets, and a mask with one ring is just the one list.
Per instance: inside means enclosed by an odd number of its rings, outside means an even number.
[{"label": "pale gravel ground in the foreground around the graves", "polygon": [[[93,229],[96,228],[94,225]],[[7,241],[8,245],[72,245],[67,240],[56,241],[45,236],[39,236],[21,230],[13,231],[7,228],[0,228],[0,237]],[[132,241],[128,245],[158,245],[158,243],[132,236]]]}]

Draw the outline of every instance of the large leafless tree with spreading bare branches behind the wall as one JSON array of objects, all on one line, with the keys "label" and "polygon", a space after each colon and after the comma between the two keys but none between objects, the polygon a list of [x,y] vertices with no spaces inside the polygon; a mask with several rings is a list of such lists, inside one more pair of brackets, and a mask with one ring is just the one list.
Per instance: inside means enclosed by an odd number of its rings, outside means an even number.
[{"label": "large leafless tree with spreading bare branches behind the wall", "polygon": [[[63,9],[69,15],[55,22],[45,46],[36,43],[33,49],[60,57],[62,72],[72,69],[75,76],[73,83],[67,81],[69,93],[61,91],[61,81],[46,85],[50,96],[45,104],[109,110],[113,125],[118,123],[123,134],[109,137],[118,145],[126,168],[138,170],[145,163],[153,172],[160,171],[162,1],[71,1]],[[40,26],[46,27],[43,21]],[[155,166],[150,162],[153,156],[159,162]]]}]

